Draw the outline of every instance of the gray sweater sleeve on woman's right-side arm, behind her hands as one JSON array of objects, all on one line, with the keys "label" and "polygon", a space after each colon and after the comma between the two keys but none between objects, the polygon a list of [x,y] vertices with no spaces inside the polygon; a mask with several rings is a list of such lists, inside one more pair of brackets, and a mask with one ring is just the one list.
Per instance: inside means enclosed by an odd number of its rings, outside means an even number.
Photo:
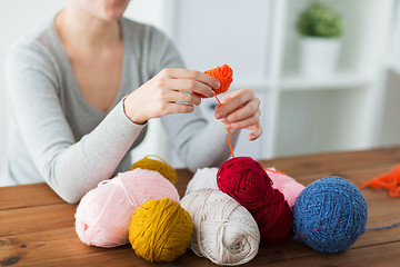
[{"label": "gray sweater sleeve on woman's right-side arm, behind her hands", "polygon": [[[168,38],[156,29],[151,36],[151,51],[158,51],[150,65],[153,66],[154,75],[163,68],[184,68],[178,50]],[[229,158],[227,130],[217,119],[208,121],[199,107],[192,113],[163,116],[161,122],[173,149],[192,172],[198,168],[220,166]],[[239,132],[240,130],[232,131],[233,147]]]}]

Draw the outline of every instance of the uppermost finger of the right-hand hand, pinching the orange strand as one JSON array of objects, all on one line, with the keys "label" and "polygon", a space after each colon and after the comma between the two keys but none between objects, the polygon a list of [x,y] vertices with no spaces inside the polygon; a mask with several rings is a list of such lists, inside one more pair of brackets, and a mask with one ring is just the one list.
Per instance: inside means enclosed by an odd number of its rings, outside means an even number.
[{"label": "uppermost finger of the right-hand hand, pinching the orange strand", "polygon": [[251,101],[252,99],[258,100],[258,98],[254,97],[254,93],[250,89],[242,89],[226,95],[221,100],[222,106],[218,105],[216,108],[216,118],[226,118],[232,111],[246,106],[246,103]]}]

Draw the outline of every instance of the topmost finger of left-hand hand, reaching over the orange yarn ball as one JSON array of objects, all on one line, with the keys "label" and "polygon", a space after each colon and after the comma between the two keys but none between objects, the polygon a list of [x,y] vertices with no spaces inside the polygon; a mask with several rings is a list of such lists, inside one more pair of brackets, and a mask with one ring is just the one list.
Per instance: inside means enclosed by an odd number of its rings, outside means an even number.
[{"label": "topmost finger of left-hand hand, reaching over the orange yarn ball", "polygon": [[193,79],[200,81],[213,89],[220,88],[220,82],[217,78],[206,75],[197,70],[188,69],[163,69],[161,75],[167,76],[172,79]]}]

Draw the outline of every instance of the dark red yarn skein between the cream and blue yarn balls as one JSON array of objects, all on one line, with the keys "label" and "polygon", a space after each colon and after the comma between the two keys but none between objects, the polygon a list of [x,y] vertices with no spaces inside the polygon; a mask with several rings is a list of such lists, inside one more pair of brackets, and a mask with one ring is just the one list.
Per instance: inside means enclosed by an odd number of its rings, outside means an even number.
[{"label": "dark red yarn skein between the cream and blue yarn balls", "polygon": [[262,243],[282,241],[290,237],[292,214],[283,195],[272,188],[262,166],[250,157],[226,161],[218,170],[219,189],[233,197],[254,217]]}]

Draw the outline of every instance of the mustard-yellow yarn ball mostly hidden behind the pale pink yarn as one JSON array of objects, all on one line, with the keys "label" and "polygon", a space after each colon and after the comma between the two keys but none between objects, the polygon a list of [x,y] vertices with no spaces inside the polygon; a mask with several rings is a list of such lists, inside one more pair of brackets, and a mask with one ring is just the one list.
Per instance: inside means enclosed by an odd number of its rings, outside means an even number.
[{"label": "mustard-yellow yarn ball mostly hidden behind the pale pink yarn", "polygon": [[[156,159],[152,159],[152,158]],[[177,185],[178,174],[172,168],[172,166],[168,165],[166,160],[161,157],[156,155],[149,155],[142,158],[141,160],[134,162],[129,170],[140,168],[140,169],[148,169],[148,170],[156,170],[160,172],[163,177],[166,177],[172,185]]]}]

